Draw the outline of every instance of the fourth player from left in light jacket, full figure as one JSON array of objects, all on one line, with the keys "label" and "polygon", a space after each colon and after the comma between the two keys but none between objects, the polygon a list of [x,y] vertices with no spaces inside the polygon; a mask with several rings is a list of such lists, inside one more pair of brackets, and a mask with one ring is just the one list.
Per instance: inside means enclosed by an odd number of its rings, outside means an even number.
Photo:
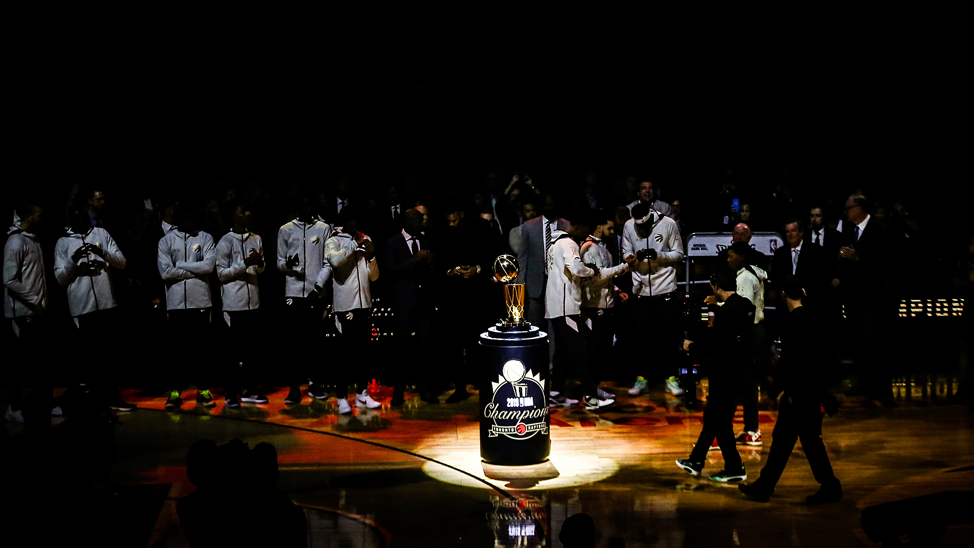
[{"label": "fourth player from left in light jacket, full figure", "polygon": [[[258,394],[252,385],[244,388],[242,371],[253,355],[253,336],[259,333],[260,291],[257,276],[264,271],[264,244],[260,236],[250,232],[250,208],[243,203],[230,204],[234,227],[216,245],[216,276],[220,280],[223,302],[223,321],[229,328],[226,348],[230,362],[227,375],[226,406],[240,407],[240,402],[268,403],[267,396]],[[244,380],[247,380],[244,378]]]}]

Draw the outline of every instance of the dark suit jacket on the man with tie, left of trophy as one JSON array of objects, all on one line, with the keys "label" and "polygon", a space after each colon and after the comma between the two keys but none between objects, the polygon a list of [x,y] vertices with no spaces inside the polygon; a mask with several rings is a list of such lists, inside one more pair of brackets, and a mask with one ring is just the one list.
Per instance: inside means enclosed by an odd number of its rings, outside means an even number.
[{"label": "dark suit jacket on the man with tie, left of trophy", "polygon": [[[420,249],[431,250],[430,239],[419,237]],[[426,260],[413,262],[413,254],[400,231],[386,242],[383,274],[392,283],[393,307],[410,311],[432,305],[432,267]]]}]

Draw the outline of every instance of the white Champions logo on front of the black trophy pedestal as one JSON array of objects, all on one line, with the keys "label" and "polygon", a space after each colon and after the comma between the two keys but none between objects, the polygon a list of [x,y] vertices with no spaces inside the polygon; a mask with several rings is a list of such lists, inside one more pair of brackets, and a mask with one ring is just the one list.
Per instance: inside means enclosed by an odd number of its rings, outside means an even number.
[{"label": "white Champions logo on front of the black trophy pedestal", "polygon": [[525,372],[520,360],[508,360],[502,372],[497,382],[491,381],[494,395],[484,407],[484,416],[493,421],[488,435],[527,440],[539,432],[547,434],[548,408],[541,373]]}]

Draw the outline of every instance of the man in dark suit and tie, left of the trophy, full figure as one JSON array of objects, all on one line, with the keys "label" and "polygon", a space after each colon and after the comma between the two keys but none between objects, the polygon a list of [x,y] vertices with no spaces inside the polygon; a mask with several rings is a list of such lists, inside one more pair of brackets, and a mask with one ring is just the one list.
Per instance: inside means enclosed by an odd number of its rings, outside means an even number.
[{"label": "man in dark suit and tie, left of the trophy, full figure", "polygon": [[423,214],[407,210],[403,227],[386,243],[383,270],[392,281],[396,352],[400,367],[394,373],[393,406],[401,406],[407,376],[419,375],[420,397],[438,404],[431,394],[430,333],[433,288],[430,240],[423,234]]}]

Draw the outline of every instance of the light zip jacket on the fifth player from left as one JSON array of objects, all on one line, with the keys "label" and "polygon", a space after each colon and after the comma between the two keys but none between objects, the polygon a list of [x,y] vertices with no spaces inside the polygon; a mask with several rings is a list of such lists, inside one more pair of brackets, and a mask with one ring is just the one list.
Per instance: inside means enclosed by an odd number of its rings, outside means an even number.
[{"label": "light zip jacket on the fifth player from left", "polygon": [[[331,267],[324,259],[324,242],[331,237],[331,225],[316,219],[307,223],[294,219],[278,230],[278,270],[284,273],[284,296],[308,296],[315,284],[324,287]],[[298,255],[300,262],[287,267],[287,257]],[[324,270],[324,272],[322,272]]]}]

